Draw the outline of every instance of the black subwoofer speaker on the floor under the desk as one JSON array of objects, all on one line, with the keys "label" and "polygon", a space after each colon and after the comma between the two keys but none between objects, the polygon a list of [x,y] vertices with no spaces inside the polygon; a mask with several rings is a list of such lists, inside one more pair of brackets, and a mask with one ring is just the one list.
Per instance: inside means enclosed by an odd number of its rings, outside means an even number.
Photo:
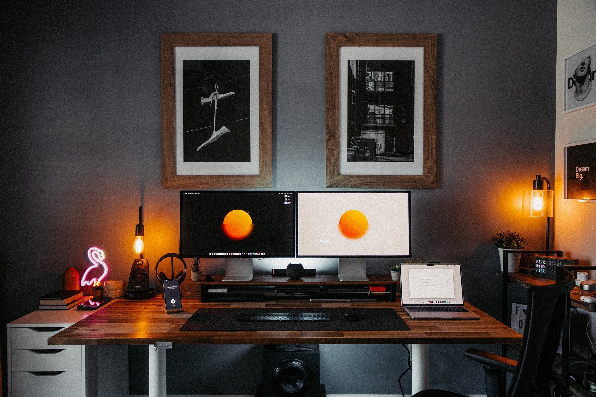
[{"label": "black subwoofer speaker on the floor under the desk", "polygon": [[319,345],[265,345],[263,396],[319,397]]}]

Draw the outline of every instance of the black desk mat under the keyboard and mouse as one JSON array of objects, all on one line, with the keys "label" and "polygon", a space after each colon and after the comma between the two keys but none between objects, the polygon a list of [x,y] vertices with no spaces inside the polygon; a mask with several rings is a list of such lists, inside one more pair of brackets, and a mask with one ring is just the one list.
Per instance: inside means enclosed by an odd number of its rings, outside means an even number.
[{"label": "black desk mat under the keyboard and mouse", "polygon": [[[243,321],[240,313],[329,313],[331,321]],[[358,321],[344,320],[344,314],[358,315]],[[181,331],[408,331],[410,328],[390,308],[259,308],[198,309]]]}]

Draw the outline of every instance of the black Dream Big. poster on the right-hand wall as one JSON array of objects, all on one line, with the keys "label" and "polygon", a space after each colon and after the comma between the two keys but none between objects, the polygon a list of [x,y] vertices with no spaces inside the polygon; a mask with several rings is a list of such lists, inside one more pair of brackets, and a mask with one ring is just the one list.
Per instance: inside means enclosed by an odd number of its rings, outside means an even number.
[{"label": "black Dream Big. poster on the right-hand wall", "polygon": [[596,140],[564,147],[566,200],[596,203]]}]

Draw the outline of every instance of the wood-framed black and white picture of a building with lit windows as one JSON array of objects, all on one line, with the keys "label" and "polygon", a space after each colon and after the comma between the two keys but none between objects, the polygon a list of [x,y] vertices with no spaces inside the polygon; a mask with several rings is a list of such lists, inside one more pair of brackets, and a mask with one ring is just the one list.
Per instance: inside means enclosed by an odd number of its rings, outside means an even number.
[{"label": "wood-framed black and white picture of a building with lit windows", "polygon": [[436,35],[329,33],[327,187],[436,187]]}]

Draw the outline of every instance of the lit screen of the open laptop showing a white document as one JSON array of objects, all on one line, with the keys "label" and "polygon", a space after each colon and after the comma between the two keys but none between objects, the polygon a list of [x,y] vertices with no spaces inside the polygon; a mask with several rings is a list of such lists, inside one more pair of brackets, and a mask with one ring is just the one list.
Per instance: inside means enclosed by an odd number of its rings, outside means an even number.
[{"label": "lit screen of the open laptop showing a white document", "polygon": [[463,305],[459,264],[403,264],[401,277],[402,305]]}]

